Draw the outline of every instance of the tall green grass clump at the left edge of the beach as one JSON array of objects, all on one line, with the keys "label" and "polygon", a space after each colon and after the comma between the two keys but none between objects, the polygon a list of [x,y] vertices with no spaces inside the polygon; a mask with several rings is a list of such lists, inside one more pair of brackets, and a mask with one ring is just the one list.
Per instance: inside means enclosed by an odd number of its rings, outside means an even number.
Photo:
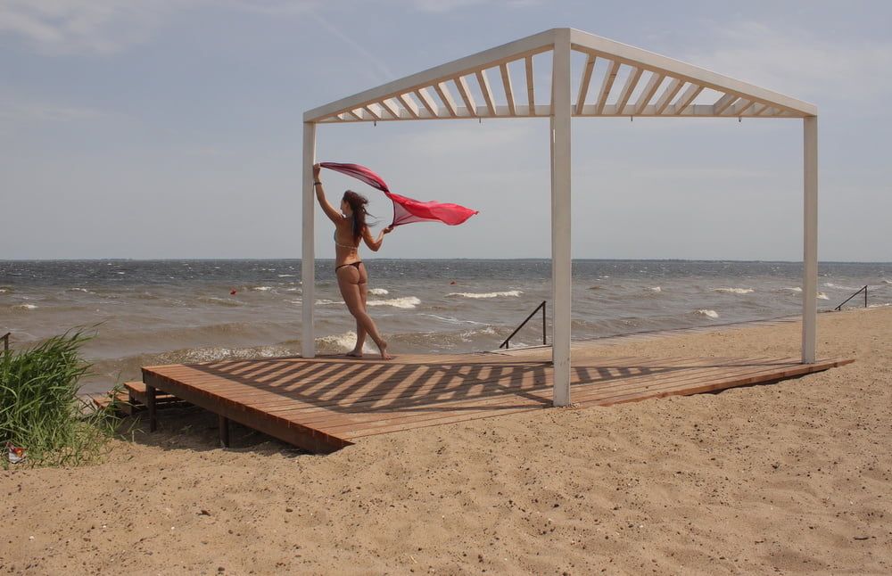
[{"label": "tall green grass clump at the left edge of the beach", "polygon": [[[95,459],[118,421],[113,409],[89,410],[78,398],[90,369],[80,348],[92,338],[81,329],[54,336],[0,360],[0,442],[27,449],[29,465],[76,465]],[[113,407],[110,407],[113,408]]]}]

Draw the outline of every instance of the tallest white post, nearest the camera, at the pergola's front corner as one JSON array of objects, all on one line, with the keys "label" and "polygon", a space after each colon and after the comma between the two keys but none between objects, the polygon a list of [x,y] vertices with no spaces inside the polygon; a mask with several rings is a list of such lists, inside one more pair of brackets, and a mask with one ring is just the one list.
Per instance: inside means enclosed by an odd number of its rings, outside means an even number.
[{"label": "tallest white post, nearest the camera, at the pergola's front corner", "polygon": [[570,404],[570,29],[558,29],[551,73],[551,309],[554,406]]}]

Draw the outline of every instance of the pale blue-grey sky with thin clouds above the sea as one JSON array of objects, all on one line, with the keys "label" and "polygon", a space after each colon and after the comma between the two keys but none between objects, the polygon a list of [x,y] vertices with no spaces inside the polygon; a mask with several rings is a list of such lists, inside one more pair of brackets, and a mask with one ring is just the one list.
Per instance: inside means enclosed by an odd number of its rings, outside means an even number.
[{"label": "pale blue-grey sky with thin clouds above the sea", "polygon": [[[890,25],[857,0],[0,0],[0,259],[300,258],[304,111],[572,27],[816,104],[819,258],[890,261]],[[318,160],[480,210],[376,257],[548,258],[548,130],[321,126]],[[802,141],[797,119],[574,119],[573,257],[801,260]],[[316,210],[318,258],[331,231]]]}]

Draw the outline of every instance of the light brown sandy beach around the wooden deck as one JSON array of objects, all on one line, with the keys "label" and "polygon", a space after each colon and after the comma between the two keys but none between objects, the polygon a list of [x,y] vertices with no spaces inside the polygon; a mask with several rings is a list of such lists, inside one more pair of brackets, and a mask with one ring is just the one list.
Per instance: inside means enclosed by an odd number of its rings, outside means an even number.
[{"label": "light brown sandy beach around the wooden deck", "polygon": [[[606,345],[797,356],[798,324]],[[892,572],[892,308],[819,317],[783,383],[550,409],[301,454],[165,416],[101,465],[0,476],[0,572]]]}]

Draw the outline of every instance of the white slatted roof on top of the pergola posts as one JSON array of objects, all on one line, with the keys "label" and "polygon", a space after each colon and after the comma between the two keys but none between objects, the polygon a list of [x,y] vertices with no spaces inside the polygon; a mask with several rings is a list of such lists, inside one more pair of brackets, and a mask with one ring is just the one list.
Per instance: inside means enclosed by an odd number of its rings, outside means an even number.
[{"label": "white slatted roof on top of the pergola posts", "polygon": [[[533,62],[537,54],[554,49],[562,30],[567,29],[546,30],[388,82],[307,111],[303,119],[342,123],[548,117],[550,90],[543,94],[535,89]],[[575,57],[580,65],[571,70],[579,82],[574,116],[817,116],[814,104],[581,30],[568,30],[573,53],[582,54]],[[536,62],[550,72],[550,58]]]}]

